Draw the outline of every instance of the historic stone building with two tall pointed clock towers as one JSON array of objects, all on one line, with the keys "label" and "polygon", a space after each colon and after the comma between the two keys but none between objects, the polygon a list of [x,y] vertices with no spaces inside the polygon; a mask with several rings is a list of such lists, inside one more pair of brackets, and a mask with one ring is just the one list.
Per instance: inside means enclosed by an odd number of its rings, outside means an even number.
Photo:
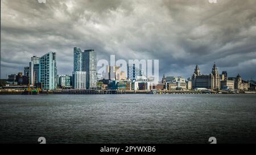
[{"label": "historic stone building with two tall pointed clock towers", "polygon": [[192,76],[192,88],[220,89],[220,75],[218,74],[215,63],[212,68],[212,73],[209,75],[201,74],[199,66],[196,65],[195,72]]}]

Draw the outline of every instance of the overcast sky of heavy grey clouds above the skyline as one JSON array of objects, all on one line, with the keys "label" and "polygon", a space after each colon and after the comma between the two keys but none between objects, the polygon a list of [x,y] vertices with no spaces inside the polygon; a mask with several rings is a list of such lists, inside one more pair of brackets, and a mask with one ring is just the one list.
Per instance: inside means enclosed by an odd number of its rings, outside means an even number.
[{"label": "overcast sky of heavy grey clouds above the skyline", "polygon": [[30,57],[57,52],[71,74],[73,47],[97,59],[158,59],[162,76],[190,77],[213,63],[229,77],[256,79],[255,0],[1,0],[1,78]]}]

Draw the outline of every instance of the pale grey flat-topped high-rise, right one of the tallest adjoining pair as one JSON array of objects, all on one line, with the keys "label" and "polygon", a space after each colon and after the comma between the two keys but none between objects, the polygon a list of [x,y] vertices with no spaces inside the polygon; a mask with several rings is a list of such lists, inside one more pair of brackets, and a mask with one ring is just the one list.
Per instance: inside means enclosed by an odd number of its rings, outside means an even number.
[{"label": "pale grey flat-topped high-rise, right one of the tallest adjoining pair", "polygon": [[82,53],[82,71],[86,72],[86,89],[96,89],[97,85],[97,59],[96,51],[85,50]]}]

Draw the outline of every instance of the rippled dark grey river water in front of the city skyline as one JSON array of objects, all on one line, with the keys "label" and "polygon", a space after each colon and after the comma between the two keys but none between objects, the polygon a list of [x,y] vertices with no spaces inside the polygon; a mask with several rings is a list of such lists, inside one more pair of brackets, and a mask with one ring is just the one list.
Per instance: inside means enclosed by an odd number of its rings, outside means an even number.
[{"label": "rippled dark grey river water in front of the city skyline", "polygon": [[0,98],[0,143],[256,143],[255,94]]}]

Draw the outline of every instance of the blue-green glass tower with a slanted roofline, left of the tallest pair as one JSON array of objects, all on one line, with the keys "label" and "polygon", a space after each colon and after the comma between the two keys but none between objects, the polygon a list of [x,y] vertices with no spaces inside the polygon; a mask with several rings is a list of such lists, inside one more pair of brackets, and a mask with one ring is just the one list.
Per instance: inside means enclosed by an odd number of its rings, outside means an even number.
[{"label": "blue-green glass tower with a slanted roofline, left of the tallest pair", "polygon": [[40,77],[42,88],[46,90],[56,89],[57,85],[57,66],[56,52],[49,52],[40,57]]}]

